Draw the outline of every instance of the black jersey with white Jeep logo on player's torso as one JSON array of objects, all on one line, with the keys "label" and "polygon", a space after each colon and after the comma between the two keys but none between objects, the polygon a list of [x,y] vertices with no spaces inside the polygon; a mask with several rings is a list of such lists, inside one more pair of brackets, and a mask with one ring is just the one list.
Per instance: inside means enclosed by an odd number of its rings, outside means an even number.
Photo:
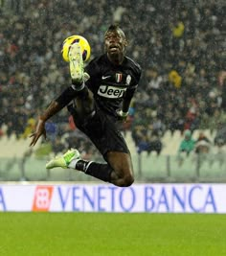
[{"label": "black jersey with white Jeep logo on player's torso", "polygon": [[115,65],[106,54],[90,61],[85,71],[90,75],[86,85],[97,105],[113,115],[124,98],[132,98],[141,77],[140,65],[131,58],[124,57],[121,65]]}]

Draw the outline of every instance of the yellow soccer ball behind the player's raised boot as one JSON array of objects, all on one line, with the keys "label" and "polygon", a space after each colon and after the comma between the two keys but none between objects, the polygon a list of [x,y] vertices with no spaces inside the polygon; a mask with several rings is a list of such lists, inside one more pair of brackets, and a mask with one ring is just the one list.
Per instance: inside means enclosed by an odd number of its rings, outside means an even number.
[{"label": "yellow soccer ball behind the player's raised boot", "polygon": [[84,61],[87,61],[90,58],[91,48],[90,48],[89,42],[81,35],[71,35],[63,41],[62,47],[61,47],[62,58],[66,62],[69,61],[68,53],[71,45],[74,43],[79,43],[82,51],[82,58]]}]

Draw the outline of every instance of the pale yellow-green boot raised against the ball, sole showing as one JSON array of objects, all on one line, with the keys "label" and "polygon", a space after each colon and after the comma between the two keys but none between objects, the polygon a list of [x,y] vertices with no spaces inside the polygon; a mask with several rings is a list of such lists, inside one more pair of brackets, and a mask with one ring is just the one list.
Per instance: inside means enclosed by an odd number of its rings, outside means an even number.
[{"label": "pale yellow-green boot raised against the ball, sole showing", "polygon": [[74,84],[81,84],[84,77],[84,62],[79,43],[71,45],[69,50],[70,72]]}]

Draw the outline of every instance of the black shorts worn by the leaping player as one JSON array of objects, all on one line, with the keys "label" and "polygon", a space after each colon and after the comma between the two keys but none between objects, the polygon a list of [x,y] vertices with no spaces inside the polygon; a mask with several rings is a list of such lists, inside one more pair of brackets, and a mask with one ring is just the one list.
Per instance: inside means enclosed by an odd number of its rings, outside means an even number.
[{"label": "black shorts worn by the leaping player", "polygon": [[80,117],[74,109],[69,109],[74,122],[84,134],[93,142],[106,160],[108,151],[130,153],[120,131],[120,124],[116,117],[110,116],[96,107],[94,115]]}]

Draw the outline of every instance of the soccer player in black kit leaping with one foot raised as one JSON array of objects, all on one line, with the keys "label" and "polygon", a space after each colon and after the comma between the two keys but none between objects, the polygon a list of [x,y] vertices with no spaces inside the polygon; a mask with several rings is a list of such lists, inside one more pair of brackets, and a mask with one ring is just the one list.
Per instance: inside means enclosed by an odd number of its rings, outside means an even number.
[{"label": "soccer player in black kit leaping with one foot raised", "polygon": [[141,67],[126,57],[127,40],[123,30],[111,25],[104,35],[105,53],[84,68],[79,43],[69,50],[72,85],[40,115],[34,133],[34,146],[41,135],[46,137],[45,122],[68,106],[74,122],[102,153],[105,163],[83,160],[71,149],[46,164],[47,169],[71,168],[116,186],[134,182],[130,152],[120,131],[134,92],[141,78]]}]

